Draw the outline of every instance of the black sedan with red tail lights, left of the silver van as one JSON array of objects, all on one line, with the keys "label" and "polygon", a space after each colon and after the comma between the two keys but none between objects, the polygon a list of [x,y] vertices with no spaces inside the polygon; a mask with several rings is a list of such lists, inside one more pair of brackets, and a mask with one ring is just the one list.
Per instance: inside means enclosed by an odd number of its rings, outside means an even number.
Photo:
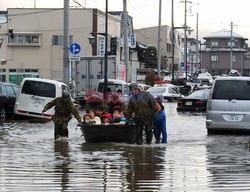
[{"label": "black sedan with red tail lights, left of the silver van", "polygon": [[194,91],[187,97],[178,99],[177,111],[201,111],[205,112],[210,89]]}]

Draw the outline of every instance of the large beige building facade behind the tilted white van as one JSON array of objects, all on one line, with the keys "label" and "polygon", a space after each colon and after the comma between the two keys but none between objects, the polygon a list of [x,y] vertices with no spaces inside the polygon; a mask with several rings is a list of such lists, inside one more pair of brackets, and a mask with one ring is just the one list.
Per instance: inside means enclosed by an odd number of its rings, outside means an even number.
[{"label": "large beige building facade behind the tilted white van", "polygon": [[[1,24],[0,33],[6,34],[9,29],[13,29],[14,38],[3,35],[0,57],[4,65],[0,65],[0,80],[19,84],[24,77],[63,79],[63,14],[63,9],[7,10],[8,22]],[[120,59],[120,24],[120,19],[109,15],[108,39],[117,38],[117,63]],[[103,56],[104,33],[104,12],[97,9],[70,9],[69,44],[80,44],[80,57]],[[95,37],[93,45],[88,39],[91,35]]]}]

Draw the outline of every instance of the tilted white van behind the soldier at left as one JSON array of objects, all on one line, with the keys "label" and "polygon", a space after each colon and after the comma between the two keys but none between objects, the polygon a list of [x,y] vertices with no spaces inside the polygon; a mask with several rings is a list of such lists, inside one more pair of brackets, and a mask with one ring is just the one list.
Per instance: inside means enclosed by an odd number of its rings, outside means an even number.
[{"label": "tilted white van behind the soldier at left", "polygon": [[61,97],[63,90],[68,90],[67,85],[59,81],[24,78],[16,98],[14,114],[51,119],[54,107],[43,115],[42,110],[48,102],[56,97]]}]

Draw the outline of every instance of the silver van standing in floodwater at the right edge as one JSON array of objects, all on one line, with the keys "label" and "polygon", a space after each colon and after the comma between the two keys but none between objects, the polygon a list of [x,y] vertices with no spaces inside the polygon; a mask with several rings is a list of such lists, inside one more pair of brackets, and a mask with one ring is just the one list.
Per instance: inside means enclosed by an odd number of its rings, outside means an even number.
[{"label": "silver van standing in floodwater at the right edge", "polygon": [[250,131],[250,77],[218,77],[207,102],[206,128],[215,131]]}]

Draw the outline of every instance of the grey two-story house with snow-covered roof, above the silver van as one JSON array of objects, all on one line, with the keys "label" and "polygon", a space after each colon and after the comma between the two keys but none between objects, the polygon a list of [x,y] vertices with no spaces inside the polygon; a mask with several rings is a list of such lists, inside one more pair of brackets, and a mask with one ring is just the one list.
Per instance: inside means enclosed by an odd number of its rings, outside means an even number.
[{"label": "grey two-story house with snow-covered roof, above the silver van", "polygon": [[[201,68],[206,68],[212,75],[236,69],[242,74],[249,75],[249,62],[245,62],[247,52],[247,38],[222,29],[203,37],[205,45],[200,50]],[[232,46],[231,46],[232,45]]]}]

